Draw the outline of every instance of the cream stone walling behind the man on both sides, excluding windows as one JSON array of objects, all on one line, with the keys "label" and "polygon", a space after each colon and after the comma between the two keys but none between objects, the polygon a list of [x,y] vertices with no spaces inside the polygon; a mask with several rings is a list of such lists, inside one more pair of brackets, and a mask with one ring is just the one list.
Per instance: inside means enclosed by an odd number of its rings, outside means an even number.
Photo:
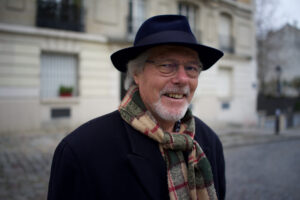
[{"label": "cream stone walling behind the man on both sides, excluding windows", "polygon": [[[230,34],[234,39],[234,51],[225,51],[214,67],[200,75],[192,102],[194,114],[212,127],[255,124],[256,47],[252,1],[145,0],[145,18],[177,14],[180,2],[197,8],[196,35],[201,43],[220,48],[224,13],[231,19]],[[117,109],[120,74],[112,66],[110,55],[131,46],[132,37],[127,32],[128,1],[85,0],[85,31],[81,33],[36,27],[35,4],[33,0],[0,1],[0,132],[74,128]],[[77,55],[78,96],[41,98],[43,52]],[[225,88],[220,76],[229,84]],[[70,108],[71,116],[52,119],[53,108]]]}]

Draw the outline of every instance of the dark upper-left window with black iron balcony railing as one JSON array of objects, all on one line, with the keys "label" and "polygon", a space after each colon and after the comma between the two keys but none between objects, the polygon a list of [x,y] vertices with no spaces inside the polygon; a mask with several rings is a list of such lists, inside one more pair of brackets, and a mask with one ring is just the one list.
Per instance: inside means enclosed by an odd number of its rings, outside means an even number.
[{"label": "dark upper-left window with black iron balcony railing", "polygon": [[38,0],[36,25],[83,32],[83,7],[78,3]]}]

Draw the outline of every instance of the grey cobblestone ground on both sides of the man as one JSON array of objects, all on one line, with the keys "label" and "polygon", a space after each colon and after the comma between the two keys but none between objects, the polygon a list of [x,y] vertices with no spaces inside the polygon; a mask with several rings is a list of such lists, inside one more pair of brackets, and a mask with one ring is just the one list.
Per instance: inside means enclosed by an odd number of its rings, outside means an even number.
[{"label": "grey cobblestone ground on both sides of the man", "polygon": [[[65,135],[61,133],[0,134],[0,200],[45,200],[52,155],[58,142]],[[291,183],[286,179],[300,180],[300,140],[294,142],[286,139],[278,136],[236,134],[221,136],[227,159],[229,184],[227,199],[293,199],[286,191],[294,189],[300,191],[299,184],[296,188],[284,183]],[[266,146],[253,145],[268,141],[273,143]],[[249,146],[245,146],[247,144]],[[245,160],[245,158],[249,159]],[[259,165],[259,162],[262,163]],[[279,170],[281,168],[282,170]],[[264,170],[273,173],[272,176],[268,177],[264,174]],[[295,172],[295,170],[298,170],[298,174],[296,173],[298,177],[284,176],[286,171]],[[272,185],[273,179],[279,183],[274,182]],[[263,184],[264,180],[270,186]],[[285,182],[280,184],[280,180]],[[293,194],[296,193],[295,191]],[[263,196],[264,192],[268,195]],[[257,193],[258,198],[252,198],[252,193]],[[272,196],[273,194],[278,194],[278,198]],[[294,197],[300,199],[299,195]]]}]

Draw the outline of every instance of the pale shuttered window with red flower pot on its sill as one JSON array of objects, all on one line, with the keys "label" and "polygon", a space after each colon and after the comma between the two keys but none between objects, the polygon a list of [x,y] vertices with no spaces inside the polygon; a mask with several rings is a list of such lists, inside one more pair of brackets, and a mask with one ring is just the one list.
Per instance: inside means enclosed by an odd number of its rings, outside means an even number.
[{"label": "pale shuttered window with red flower pot on its sill", "polygon": [[71,96],[78,95],[77,56],[59,53],[41,55],[41,98],[57,98],[62,87],[71,88]]}]

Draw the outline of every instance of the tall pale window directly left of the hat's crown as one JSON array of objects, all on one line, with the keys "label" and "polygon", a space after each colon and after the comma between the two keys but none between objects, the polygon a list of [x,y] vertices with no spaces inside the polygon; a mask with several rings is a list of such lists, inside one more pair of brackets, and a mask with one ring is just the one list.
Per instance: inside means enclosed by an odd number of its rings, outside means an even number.
[{"label": "tall pale window directly left of the hat's crown", "polygon": [[128,33],[132,37],[146,20],[146,1],[129,0]]}]

